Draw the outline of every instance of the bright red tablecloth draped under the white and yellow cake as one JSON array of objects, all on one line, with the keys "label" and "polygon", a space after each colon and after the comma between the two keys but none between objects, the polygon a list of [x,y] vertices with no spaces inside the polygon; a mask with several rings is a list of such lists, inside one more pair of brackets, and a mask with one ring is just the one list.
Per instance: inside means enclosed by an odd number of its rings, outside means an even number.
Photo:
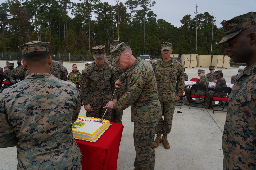
[{"label": "bright red tablecloth draped under the white and yellow cake", "polygon": [[116,169],[119,145],[124,126],[110,122],[111,126],[96,141],[88,142],[75,139],[82,151],[83,169]]}]

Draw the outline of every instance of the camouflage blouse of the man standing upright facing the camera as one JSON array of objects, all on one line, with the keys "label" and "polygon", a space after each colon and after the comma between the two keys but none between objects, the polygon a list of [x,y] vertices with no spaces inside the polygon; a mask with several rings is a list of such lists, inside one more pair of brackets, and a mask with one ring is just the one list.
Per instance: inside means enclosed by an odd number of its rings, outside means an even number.
[{"label": "camouflage blouse of the man standing upright facing the camera", "polygon": [[163,59],[152,64],[155,72],[158,99],[160,101],[174,101],[175,96],[180,96],[184,90],[183,67],[180,62],[171,59],[166,66]]}]

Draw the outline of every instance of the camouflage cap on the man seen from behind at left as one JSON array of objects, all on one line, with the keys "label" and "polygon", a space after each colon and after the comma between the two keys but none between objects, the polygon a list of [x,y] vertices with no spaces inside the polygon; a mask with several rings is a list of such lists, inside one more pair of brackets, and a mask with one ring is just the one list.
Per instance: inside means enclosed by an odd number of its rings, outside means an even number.
[{"label": "camouflage cap on the man seen from behind at left", "polygon": [[32,41],[25,43],[23,45],[18,46],[21,50],[22,55],[36,52],[36,51],[46,51],[50,53],[50,43],[49,42],[42,42],[42,41]]}]

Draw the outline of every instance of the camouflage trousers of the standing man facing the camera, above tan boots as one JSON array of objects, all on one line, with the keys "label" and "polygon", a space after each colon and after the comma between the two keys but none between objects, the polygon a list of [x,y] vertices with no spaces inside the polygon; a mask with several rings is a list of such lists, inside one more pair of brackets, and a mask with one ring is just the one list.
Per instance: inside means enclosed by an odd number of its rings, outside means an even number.
[{"label": "camouflage trousers of the standing man facing the camera, above tan boots", "polygon": [[160,101],[160,104],[162,109],[162,116],[158,120],[156,134],[168,135],[172,129],[174,101]]}]

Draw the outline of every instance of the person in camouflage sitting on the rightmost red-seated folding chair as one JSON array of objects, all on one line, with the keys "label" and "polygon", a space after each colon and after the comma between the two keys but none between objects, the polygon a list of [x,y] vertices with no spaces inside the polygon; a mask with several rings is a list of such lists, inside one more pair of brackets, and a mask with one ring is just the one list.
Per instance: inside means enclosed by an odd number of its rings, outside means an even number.
[{"label": "person in camouflage sitting on the rightmost red-seated folding chair", "polygon": [[[218,70],[218,71],[215,71],[215,75],[222,75],[219,79],[217,79],[217,83],[215,84],[215,88],[213,89],[213,91],[208,91],[206,92],[205,94],[205,102],[207,103],[204,108],[208,108],[209,107],[209,104],[210,104],[210,96],[212,96],[215,92],[215,90],[219,87],[227,87],[227,83],[226,83],[226,80],[224,79],[223,77],[223,74],[222,74],[222,71],[221,70]],[[227,93],[222,93],[222,92],[219,92],[219,93],[215,93],[216,97],[226,97],[227,96]],[[211,108],[211,107],[209,107]]]}]

